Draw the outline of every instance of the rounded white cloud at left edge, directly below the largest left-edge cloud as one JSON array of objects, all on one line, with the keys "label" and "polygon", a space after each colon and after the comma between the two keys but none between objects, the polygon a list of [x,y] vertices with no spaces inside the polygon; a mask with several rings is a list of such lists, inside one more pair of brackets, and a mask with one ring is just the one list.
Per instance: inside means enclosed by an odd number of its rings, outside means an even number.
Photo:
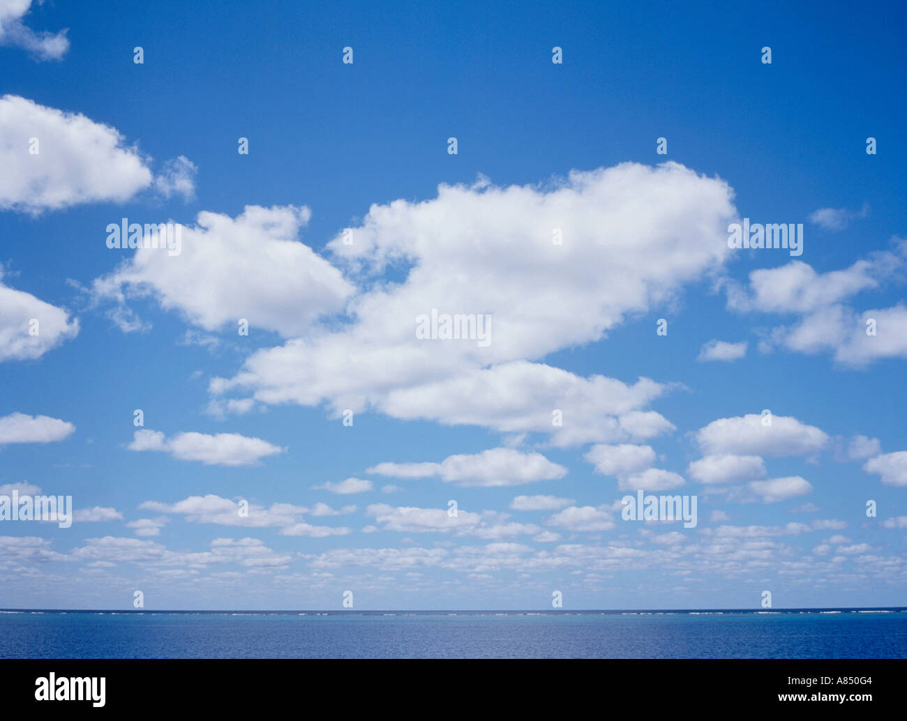
[{"label": "rounded white cloud at left edge, directly below the largest left-edge cloud", "polygon": [[40,358],[78,334],[78,318],[71,319],[63,308],[6,286],[0,268],[0,362]]}]

